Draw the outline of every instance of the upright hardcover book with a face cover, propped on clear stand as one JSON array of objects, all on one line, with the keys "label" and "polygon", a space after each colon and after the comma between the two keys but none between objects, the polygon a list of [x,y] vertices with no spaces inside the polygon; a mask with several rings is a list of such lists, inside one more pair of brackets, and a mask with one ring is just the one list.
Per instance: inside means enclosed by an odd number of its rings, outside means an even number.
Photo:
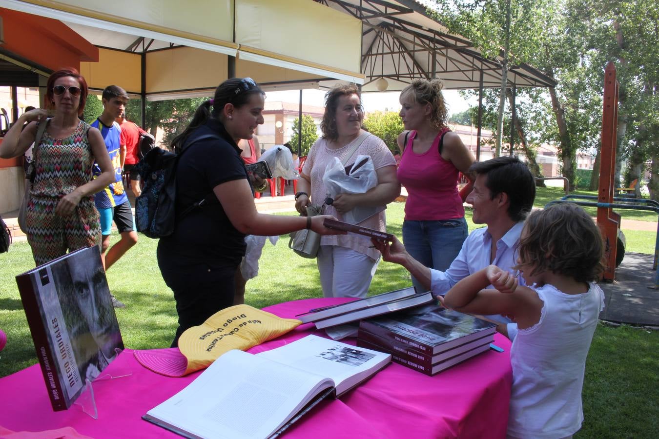
[{"label": "upright hardcover book with a face cover, propped on clear stand", "polygon": [[53,410],[68,409],[123,349],[98,247],[16,276]]}]

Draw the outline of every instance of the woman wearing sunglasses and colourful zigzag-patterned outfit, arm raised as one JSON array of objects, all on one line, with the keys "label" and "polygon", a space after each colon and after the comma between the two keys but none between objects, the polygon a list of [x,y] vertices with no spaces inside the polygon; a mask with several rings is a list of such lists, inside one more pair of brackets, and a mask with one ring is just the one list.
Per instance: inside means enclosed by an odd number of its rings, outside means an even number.
[{"label": "woman wearing sunglasses and colourful zigzag-patterned outfit, arm raised", "polygon": [[[36,165],[26,208],[26,235],[36,265],[101,241],[94,194],[114,178],[101,133],[78,118],[87,98],[87,82],[74,68],[48,78],[45,107],[23,113],[0,144],[0,157],[22,155],[36,140],[40,124],[47,124],[32,158]],[[28,126],[21,132],[23,124]],[[92,179],[96,161],[101,174]]]}]

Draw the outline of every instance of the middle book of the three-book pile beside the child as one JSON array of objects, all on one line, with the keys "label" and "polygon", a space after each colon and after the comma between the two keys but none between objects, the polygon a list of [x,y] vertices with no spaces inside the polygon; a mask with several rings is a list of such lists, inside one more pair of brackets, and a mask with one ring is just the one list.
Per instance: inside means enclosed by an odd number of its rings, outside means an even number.
[{"label": "middle book of the three-book pile beside the child", "polygon": [[[488,334],[484,337],[476,338],[476,340],[455,346],[452,349],[437,353],[435,355],[422,353],[416,349],[410,348],[410,346],[407,344],[396,342],[390,338],[376,336],[375,334],[371,334],[370,332],[363,329],[358,330],[357,339],[368,342],[373,346],[378,346],[379,348],[384,349],[385,352],[391,353],[392,355],[397,355],[399,357],[415,361],[424,367],[431,367],[440,361],[455,357],[455,355],[460,353],[467,352],[474,348],[480,348],[480,346],[484,344],[489,345],[490,343],[494,342],[494,334]],[[366,348],[368,348],[368,346],[366,346]]]}]

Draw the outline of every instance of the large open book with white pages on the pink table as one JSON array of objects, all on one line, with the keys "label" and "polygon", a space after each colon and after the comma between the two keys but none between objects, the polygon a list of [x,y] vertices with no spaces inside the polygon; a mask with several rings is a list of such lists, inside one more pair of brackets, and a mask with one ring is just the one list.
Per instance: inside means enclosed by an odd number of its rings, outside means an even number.
[{"label": "large open book with white pages on the pink table", "polygon": [[388,353],[313,335],[256,355],[234,349],[143,418],[193,438],[265,438],[389,362]]}]

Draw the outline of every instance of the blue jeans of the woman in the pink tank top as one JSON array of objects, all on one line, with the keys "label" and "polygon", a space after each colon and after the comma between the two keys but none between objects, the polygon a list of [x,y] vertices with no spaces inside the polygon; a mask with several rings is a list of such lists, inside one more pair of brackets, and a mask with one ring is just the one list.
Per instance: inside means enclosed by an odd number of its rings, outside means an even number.
[{"label": "blue jeans of the woman in the pink tank top", "polygon": [[[469,228],[464,217],[439,221],[403,222],[403,244],[417,261],[431,269],[446,271],[457,257]],[[416,290],[426,289],[412,277]]]}]

